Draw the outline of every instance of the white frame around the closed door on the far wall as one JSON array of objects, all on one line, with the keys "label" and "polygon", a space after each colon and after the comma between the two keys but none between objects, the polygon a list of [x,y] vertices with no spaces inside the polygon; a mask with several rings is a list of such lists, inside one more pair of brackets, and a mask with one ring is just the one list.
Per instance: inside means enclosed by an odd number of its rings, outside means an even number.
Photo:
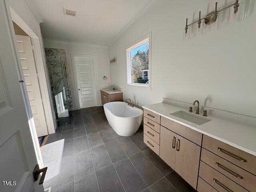
[{"label": "white frame around the closed door on the far wall", "polygon": [[76,77],[76,70],[74,69],[74,57],[91,57],[92,58],[92,62],[93,62],[93,68],[94,68],[94,81],[95,81],[95,89],[96,89],[96,105],[98,106],[98,72],[97,72],[97,67],[96,67],[96,62],[95,62],[95,56],[94,55],[90,55],[90,54],[74,54],[71,53],[71,68],[72,68],[72,72],[73,72],[73,80],[74,80],[74,88],[75,88],[75,94],[76,94],[76,105],[77,108],[80,109],[80,103],[79,103],[79,95],[78,95],[78,86],[77,86],[77,77]]}]

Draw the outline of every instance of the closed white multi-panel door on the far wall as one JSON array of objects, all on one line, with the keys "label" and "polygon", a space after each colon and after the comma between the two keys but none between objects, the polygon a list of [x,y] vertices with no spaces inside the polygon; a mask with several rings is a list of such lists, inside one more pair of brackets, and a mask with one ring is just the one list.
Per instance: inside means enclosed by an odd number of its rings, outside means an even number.
[{"label": "closed white multi-panel door on the far wall", "polygon": [[80,108],[97,106],[93,56],[72,56]]}]

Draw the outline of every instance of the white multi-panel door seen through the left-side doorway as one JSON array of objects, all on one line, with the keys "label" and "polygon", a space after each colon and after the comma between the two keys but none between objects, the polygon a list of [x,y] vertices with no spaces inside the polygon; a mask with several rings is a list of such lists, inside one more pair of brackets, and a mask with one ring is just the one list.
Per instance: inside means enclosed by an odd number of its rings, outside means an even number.
[{"label": "white multi-panel door seen through the left-side doorway", "polygon": [[22,71],[36,126],[36,133],[38,137],[44,136],[48,134],[48,131],[30,37],[16,35],[16,44],[20,54]]}]

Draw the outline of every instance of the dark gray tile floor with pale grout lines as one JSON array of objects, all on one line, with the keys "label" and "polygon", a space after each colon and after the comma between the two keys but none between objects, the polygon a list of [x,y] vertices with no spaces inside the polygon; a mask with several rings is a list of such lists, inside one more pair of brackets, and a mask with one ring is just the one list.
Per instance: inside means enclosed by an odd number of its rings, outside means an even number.
[{"label": "dark gray tile floor with pale grout lines", "polygon": [[119,136],[102,107],[72,112],[42,150],[52,192],[195,192],[143,142],[143,128]]}]

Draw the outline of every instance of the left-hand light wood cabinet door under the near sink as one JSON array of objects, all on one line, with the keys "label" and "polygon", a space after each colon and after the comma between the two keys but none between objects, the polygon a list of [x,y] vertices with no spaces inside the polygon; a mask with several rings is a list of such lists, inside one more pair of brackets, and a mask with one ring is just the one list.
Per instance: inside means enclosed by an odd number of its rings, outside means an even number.
[{"label": "left-hand light wood cabinet door under the near sink", "polygon": [[161,126],[160,128],[160,158],[173,170],[175,168],[177,134]]}]

